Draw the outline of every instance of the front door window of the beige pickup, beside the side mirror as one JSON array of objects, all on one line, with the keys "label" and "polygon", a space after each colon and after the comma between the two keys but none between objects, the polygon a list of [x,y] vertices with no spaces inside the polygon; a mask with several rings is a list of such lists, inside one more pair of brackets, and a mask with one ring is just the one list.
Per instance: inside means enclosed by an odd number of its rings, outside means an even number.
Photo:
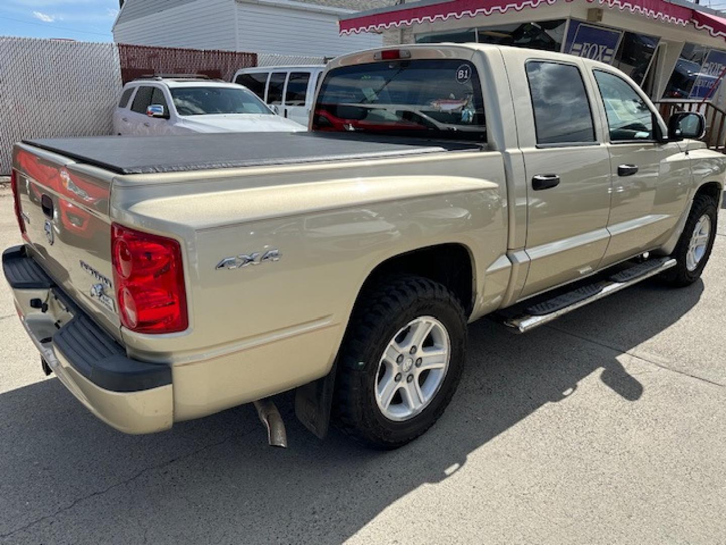
[{"label": "front door window of the beige pickup, beside the side mirror", "polygon": [[615,74],[595,70],[608,116],[610,140],[653,140],[653,112],[630,84]]}]

